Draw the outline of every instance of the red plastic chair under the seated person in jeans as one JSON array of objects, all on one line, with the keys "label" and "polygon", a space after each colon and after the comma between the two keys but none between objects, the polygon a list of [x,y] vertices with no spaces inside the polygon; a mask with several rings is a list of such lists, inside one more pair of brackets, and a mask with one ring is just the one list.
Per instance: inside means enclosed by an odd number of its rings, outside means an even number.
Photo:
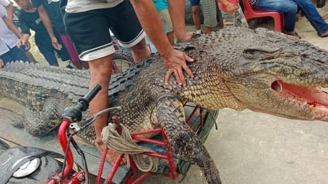
[{"label": "red plastic chair under the seated person in jeans", "polygon": [[243,3],[244,3],[244,9],[245,9],[244,16],[245,16],[247,22],[251,18],[272,17],[275,22],[275,30],[278,32],[282,31],[282,27],[283,27],[283,15],[282,14],[280,14],[278,12],[264,12],[264,11],[252,9],[248,0],[243,0]]}]

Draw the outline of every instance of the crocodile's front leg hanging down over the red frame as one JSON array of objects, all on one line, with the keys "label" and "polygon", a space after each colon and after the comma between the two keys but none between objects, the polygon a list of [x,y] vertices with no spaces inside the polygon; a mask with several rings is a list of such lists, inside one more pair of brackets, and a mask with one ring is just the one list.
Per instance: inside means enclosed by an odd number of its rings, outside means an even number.
[{"label": "crocodile's front leg hanging down over the red frame", "polygon": [[221,183],[219,171],[199,136],[185,123],[182,103],[173,96],[157,101],[157,118],[175,153],[198,166],[208,183]]}]

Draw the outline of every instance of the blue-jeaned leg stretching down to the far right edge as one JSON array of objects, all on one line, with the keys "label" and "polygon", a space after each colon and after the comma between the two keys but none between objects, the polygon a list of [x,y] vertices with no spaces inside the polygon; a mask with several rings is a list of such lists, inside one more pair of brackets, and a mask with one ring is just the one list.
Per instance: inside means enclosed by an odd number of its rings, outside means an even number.
[{"label": "blue-jeaned leg stretching down to the far right edge", "polygon": [[290,0],[297,4],[302,10],[304,16],[309,20],[311,25],[317,31],[319,36],[328,34],[328,24],[323,20],[319,12],[310,0]]}]

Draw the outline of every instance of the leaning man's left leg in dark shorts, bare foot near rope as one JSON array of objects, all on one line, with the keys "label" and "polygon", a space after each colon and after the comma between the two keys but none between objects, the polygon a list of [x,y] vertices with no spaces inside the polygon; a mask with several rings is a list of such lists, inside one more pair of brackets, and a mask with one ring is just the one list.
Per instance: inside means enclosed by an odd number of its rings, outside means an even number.
[{"label": "leaning man's left leg in dark shorts, bare foot near rope", "polygon": [[[108,107],[108,88],[112,72],[112,54],[115,49],[110,38],[109,25],[105,15],[105,10],[91,10],[88,12],[68,14],[64,13],[64,22],[79,58],[88,61],[90,66],[90,84],[102,86],[102,90],[93,98],[90,103],[90,114]],[[83,29],[82,29],[83,28]],[[101,140],[101,133],[107,126],[108,114],[98,117],[94,124],[95,146],[100,152],[106,148]],[[111,164],[114,164],[118,153],[109,150],[106,156]]]}]

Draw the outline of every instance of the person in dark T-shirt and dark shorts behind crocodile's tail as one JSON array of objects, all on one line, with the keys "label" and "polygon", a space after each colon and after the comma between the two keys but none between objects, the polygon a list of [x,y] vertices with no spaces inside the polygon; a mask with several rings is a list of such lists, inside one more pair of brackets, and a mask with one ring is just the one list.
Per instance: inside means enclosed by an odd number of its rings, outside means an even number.
[{"label": "person in dark T-shirt and dark shorts behind crocodile's tail", "polygon": [[[47,13],[44,12],[43,17],[48,19],[48,21],[43,22],[45,19],[41,19],[39,11],[37,8],[32,8],[29,0],[15,0],[15,2],[22,8],[18,13],[18,20],[24,39],[29,39],[31,34],[29,31],[30,29],[35,31],[36,45],[49,65],[59,66],[54,53],[55,51],[62,61],[70,60],[70,55],[67,49],[62,46],[59,34],[52,29]],[[46,24],[47,27],[45,27],[44,24]]]}]

